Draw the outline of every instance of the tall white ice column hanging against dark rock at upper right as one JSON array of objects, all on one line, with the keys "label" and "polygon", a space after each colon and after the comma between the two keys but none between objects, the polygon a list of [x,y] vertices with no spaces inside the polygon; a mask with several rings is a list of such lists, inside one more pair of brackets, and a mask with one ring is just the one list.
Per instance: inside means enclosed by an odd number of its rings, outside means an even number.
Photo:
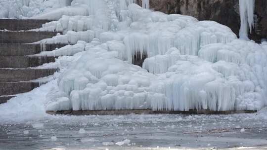
[{"label": "tall white ice column hanging against dark rock at upper right", "polygon": [[249,39],[248,25],[250,28],[250,33],[252,31],[252,26],[254,25],[254,5],[255,0],[239,0],[239,11],[241,19],[239,37],[242,39]]}]

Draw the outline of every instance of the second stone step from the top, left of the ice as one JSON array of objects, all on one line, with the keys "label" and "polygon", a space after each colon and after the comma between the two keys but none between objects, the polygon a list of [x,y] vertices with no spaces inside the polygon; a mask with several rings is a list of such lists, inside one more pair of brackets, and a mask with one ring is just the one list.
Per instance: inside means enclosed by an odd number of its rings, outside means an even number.
[{"label": "second stone step from the top, left of the ice", "polygon": [[0,43],[32,43],[56,36],[56,32],[0,31]]}]

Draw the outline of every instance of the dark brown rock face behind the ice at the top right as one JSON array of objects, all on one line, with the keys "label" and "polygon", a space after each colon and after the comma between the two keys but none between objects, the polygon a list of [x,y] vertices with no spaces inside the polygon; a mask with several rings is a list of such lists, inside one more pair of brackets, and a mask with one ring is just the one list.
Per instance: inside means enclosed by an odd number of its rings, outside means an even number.
[{"label": "dark brown rock face behind the ice at the top right", "polygon": [[[140,4],[141,0],[137,0]],[[267,0],[255,0],[255,29],[250,38],[267,38]],[[150,0],[150,7],[167,14],[190,15],[198,20],[213,20],[228,26],[239,35],[238,0]]]}]

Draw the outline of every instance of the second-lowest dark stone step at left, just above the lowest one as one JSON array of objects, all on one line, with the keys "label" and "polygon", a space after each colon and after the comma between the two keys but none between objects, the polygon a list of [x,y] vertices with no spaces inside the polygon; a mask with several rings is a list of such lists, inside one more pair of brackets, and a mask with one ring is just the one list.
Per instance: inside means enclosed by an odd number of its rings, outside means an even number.
[{"label": "second-lowest dark stone step at left, just above the lowest one", "polygon": [[0,96],[29,92],[39,86],[38,82],[0,82]]}]

